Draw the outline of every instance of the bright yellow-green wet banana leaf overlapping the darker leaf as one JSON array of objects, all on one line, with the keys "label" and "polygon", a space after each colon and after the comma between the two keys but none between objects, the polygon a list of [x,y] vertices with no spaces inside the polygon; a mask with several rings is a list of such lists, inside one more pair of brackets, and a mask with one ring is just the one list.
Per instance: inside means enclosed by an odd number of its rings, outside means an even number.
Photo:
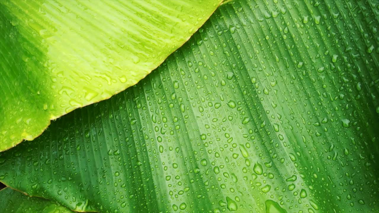
[{"label": "bright yellow-green wet banana leaf overlapping the darker leaf", "polygon": [[157,68],[215,11],[207,1],[0,2],[0,152]]}]

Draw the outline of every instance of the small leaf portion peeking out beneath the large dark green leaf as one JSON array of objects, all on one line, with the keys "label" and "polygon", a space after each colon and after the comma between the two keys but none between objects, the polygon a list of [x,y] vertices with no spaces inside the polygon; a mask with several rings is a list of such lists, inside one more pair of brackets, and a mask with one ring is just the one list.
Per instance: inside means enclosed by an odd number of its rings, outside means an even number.
[{"label": "small leaf portion peeking out beneath the large dark green leaf", "polygon": [[74,213],[50,200],[28,197],[9,187],[0,190],[0,197],[0,209],[4,213]]}]

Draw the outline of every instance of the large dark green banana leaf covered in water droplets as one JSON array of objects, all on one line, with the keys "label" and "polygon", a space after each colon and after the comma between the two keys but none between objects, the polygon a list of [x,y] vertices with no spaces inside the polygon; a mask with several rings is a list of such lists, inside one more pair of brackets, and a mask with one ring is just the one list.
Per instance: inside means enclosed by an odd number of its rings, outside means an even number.
[{"label": "large dark green banana leaf covered in water droplets", "polygon": [[75,211],[379,209],[376,1],[235,1],[124,92],[0,153]]}]

